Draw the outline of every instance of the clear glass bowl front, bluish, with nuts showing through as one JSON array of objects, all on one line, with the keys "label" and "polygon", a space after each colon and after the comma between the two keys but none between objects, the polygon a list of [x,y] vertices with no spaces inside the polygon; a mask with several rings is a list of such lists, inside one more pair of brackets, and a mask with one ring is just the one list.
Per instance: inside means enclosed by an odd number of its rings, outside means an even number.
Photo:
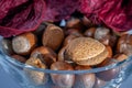
[{"label": "clear glass bowl front, bluish, with nuts showing through", "polygon": [[[0,38],[2,40],[2,38]],[[0,45],[0,66],[22,88],[119,88],[132,73],[132,56],[122,62],[89,70],[51,70],[22,64],[3,53]],[[26,72],[36,73],[30,76]],[[42,75],[44,75],[42,77]],[[53,75],[54,80],[53,80]],[[61,77],[59,77],[61,76]],[[68,77],[68,80],[66,80]],[[89,80],[92,77],[91,80]],[[34,81],[35,78],[36,81]],[[72,81],[74,78],[74,81]],[[63,84],[63,86],[57,86]]]}]

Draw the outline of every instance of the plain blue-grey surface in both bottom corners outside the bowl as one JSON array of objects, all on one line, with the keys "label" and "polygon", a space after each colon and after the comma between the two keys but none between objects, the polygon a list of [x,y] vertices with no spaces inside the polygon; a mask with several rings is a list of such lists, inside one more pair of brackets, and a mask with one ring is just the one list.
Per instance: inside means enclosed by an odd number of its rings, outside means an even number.
[{"label": "plain blue-grey surface in both bottom corners outside the bowl", "polygon": [[[132,75],[121,85],[120,88],[132,88]],[[21,88],[7,73],[0,69],[0,88]]]}]

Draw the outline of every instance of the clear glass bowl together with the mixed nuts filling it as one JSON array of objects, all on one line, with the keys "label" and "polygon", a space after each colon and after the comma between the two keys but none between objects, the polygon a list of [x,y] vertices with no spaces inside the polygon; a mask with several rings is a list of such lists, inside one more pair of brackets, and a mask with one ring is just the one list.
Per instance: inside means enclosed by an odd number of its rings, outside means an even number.
[{"label": "clear glass bowl together with the mixed nuts filling it", "polygon": [[131,35],[102,28],[84,24],[67,34],[69,29],[51,23],[41,38],[34,32],[2,37],[10,44],[0,42],[0,65],[22,88],[118,88],[132,73]]}]

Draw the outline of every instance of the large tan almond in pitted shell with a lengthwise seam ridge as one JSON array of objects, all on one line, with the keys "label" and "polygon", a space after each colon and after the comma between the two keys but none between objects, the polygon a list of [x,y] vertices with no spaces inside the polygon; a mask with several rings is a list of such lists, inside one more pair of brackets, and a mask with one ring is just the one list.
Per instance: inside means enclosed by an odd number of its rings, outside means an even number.
[{"label": "large tan almond in pitted shell with a lengthwise seam ridge", "polygon": [[73,40],[67,45],[66,53],[70,59],[80,65],[96,65],[108,56],[106,46],[90,37]]}]

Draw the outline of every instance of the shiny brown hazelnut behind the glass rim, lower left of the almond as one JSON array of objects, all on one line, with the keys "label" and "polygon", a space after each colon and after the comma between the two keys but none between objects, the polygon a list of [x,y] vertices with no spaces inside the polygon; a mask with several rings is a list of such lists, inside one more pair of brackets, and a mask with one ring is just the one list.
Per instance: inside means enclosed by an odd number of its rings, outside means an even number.
[{"label": "shiny brown hazelnut behind the glass rim, lower left of the almond", "polygon": [[[55,62],[51,66],[52,70],[74,70],[73,66],[65,62]],[[63,88],[72,88],[75,82],[75,75],[73,74],[51,74],[52,80],[55,85]]]}]

